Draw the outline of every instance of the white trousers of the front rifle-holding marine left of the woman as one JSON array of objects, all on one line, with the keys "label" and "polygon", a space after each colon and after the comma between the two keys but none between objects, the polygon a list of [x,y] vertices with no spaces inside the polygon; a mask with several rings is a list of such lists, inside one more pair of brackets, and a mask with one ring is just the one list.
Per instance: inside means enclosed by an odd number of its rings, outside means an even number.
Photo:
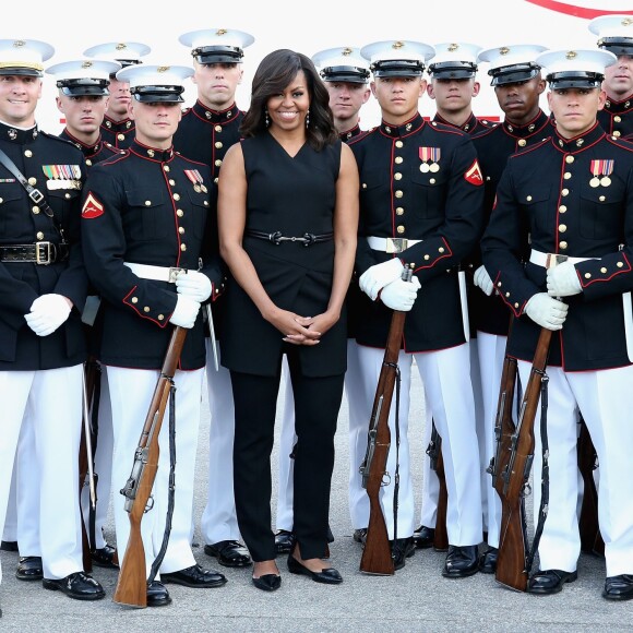
[{"label": "white trousers of the front rifle-holding marine left of the woman", "polygon": [[[150,403],[160,372],[120,367],[106,368],[112,408],[115,453],[112,458],[112,507],[117,530],[117,549],[122,561],[130,537],[130,518],[124,509],[126,499],[119,494],[124,487],[134,462],[134,452]],[[177,371],[176,385],[176,499],[171,533],[167,551],[160,565],[163,573],[176,572],[195,564],[191,551],[191,517],[193,514],[193,479],[202,394],[203,369]],[[158,435],[158,469],[152,495],[154,506],[141,523],[145,548],[147,574],[160,550],[165,534],[169,487],[169,405]]]}]

